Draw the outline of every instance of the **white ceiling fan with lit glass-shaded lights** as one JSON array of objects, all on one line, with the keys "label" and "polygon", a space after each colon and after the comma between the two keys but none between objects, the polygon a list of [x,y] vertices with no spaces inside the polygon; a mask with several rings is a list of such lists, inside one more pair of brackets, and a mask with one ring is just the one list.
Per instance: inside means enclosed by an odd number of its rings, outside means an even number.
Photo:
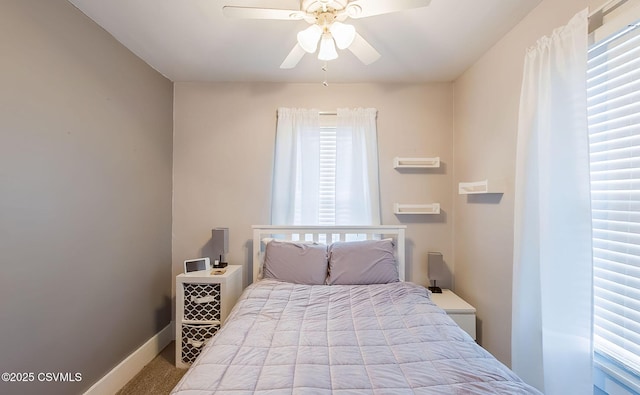
[{"label": "white ceiling fan with lit glass-shaded lights", "polygon": [[353,25],[343,21],[426,7],[429,3],[431,0],[300,0],[299,9],[227,5],[222,7],[222,12],[233,18],[307,21],[310,26],[298,33],[298,42],[280,65],[281,69],[291,69],[305,53],[315,53],[318,44],[320,60],[336,59],[337,46],[348,48],[362,63],[371,64],[380,58],[380,53],[356,32]]}]

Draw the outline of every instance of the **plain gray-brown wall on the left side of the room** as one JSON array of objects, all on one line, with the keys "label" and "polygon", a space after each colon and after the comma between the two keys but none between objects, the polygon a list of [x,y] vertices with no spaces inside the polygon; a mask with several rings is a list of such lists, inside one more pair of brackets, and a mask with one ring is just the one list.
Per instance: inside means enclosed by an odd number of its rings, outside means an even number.
[{"label": "plain gray-brown wall on the left side of the room", "polygon": [[173,85],[65,0],[0,2],[0,371],[79,393],[171,319]]}]

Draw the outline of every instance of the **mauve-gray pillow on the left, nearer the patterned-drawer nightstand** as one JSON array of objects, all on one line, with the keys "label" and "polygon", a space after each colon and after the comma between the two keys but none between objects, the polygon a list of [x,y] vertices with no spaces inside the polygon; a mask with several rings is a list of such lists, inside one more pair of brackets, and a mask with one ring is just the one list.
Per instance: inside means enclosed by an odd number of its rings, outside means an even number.
[{"label": "mauve-gray pillow on the left, nearer the patterned-drawer nightstand", "polygon": [[267,243],[263,278],[323,285],[327,269],[327,246],[324,244],[278,240]]}]

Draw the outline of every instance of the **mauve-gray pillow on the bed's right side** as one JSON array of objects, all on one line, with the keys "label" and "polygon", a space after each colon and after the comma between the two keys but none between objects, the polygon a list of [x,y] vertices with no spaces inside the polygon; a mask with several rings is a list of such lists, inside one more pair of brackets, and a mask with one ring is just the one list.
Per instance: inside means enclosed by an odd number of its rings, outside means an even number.
[{"label": "mauve-gray pillow on the bed's right side", "polygon": [[329,246],[329,285],[386,284],[399,281],[393,241],[335,242]]}]

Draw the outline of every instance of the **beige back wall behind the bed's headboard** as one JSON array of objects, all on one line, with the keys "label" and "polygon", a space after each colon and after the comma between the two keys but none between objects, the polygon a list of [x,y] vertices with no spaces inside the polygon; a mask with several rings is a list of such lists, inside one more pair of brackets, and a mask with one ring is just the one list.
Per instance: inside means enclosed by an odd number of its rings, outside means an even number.
[{"label": "beige back wall behind the bed's headboard", "polygon": [[[452,263],[453,96],[449,83],[175,86],[173,269],[208,256],[211,229],[230,228],[228,260],[250,263],[251,225],[268,224],[278,107],[375,107],[382,220],[406,224],[411,279],[426,284],[427,251]],[[443,167],[399,173],[395,156],[440,156]],[[393,203],[440,202],[435,216],[396,216]],[[248,273],[248,271],[245,271]],[[245,274],[246,278],[247,274]],[[246,280],[245,280],[246,283]]]}]

